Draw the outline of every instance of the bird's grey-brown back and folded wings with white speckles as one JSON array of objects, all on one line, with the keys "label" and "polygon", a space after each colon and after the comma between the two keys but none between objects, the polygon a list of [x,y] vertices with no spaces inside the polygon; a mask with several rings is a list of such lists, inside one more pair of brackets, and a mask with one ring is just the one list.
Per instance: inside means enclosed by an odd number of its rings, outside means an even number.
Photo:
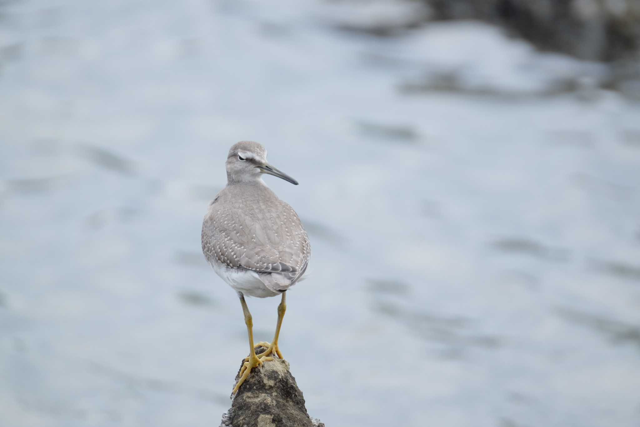
[{"label": "bird's grey-brown back and folded wings with white speckles", "polygon": [[307,232],[294,210],[261,183],[227,186],[209,205],[202,224],[209,263],[282,273],[295,282],[311,255]]}]

